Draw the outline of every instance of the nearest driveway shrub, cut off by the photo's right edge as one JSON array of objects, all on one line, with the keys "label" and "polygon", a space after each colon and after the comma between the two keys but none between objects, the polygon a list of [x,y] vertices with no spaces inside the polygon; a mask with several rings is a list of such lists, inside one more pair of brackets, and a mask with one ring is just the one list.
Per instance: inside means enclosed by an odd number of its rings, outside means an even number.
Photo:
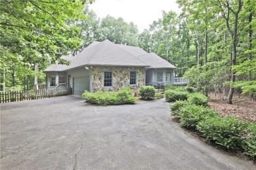
[{"label": "nearest driveway shrub, cut off by the photo's right edge", "polygon": [[249,124],[246,129],[247,135],[243,141],[245,154],[256,160],[256,122]]}]

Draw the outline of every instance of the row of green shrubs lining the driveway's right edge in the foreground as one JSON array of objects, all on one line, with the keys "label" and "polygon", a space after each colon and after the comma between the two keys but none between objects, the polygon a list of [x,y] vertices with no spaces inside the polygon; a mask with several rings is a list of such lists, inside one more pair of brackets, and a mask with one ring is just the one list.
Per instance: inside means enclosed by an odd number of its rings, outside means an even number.
[{"label": "row of green shrubs lining the driveway's right edge in the foreground", "polygon": [[201,94],[192,93],[187,100],[177,100],[170,107],[182,126],[199,131],[205,141],[219,144],[224,149],[241,150],[255,161],[256,122],[249,123],[232,116],[223,118],[206,105]]}]

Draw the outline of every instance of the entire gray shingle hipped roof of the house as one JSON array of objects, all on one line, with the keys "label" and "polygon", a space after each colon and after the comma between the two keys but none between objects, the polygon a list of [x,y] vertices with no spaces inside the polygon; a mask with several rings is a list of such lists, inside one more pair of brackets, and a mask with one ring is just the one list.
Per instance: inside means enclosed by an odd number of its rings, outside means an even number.
[{"label": "entire gray shingle hipped roof of the house", "polygon": [[95,41],[83,49],[77,56],[62,56],[62,58],[70,59],[70,65],[50,65],[45,71],[66,71],[85,65],[176,68],[156,54],[148,54],[135,46],[114,44],[109,40]]}]

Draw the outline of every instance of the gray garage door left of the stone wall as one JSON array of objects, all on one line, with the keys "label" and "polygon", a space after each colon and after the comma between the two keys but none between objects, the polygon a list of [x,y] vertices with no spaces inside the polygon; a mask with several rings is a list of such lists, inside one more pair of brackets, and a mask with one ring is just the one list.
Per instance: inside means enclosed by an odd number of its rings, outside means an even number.
[{"label": "gray garage door left of the stone wall", "polygon": [[74,77],[74,95],[81,95],[85,90],[90,91],[89,76]]}]

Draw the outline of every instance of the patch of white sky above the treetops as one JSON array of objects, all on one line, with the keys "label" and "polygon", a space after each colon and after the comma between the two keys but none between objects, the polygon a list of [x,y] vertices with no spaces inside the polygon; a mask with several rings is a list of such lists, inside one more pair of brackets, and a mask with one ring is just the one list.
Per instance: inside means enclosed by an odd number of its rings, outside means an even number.
[{"label": "patch of white sky above the treetops", "polygon": [[123,18],[125,22],[133,22],[140,32],[148,29],[154,20],[161,18],[161,11],[181,12],[176,0],[95,0],[89,5],[100,18],[108,14],[114,18]]}]

